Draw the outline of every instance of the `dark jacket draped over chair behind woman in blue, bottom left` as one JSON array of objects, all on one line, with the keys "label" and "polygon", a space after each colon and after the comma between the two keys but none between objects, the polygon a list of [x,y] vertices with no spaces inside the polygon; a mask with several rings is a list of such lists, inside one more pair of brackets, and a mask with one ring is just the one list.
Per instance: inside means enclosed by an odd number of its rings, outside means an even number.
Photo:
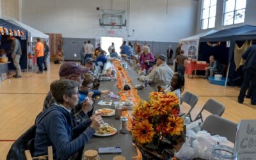
[{"label": "dark jacket draped over chair behind woman in blue, bottom left", "polygon": [[24,134],[22,134],[10,148],[6,159],[26,159],[24,151],[30,149],[28,142],[33,140],[36,135],[36,125],[32,125]]}]

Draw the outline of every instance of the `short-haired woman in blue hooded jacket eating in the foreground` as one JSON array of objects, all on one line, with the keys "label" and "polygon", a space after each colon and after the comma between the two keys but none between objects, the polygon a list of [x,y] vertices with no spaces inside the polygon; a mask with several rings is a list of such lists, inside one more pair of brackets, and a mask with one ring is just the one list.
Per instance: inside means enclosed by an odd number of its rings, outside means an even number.
[{"label": "short-haired woman in blue hooded jacket eating in the foreground", "polygon": [[[56,80],[51,83],[51,93],[56,103],[36,119],[35,156],[47,154],[52,146],[54,159],[69,159],[81,154],[84,145],[103,122],[100,114],[93,115],[80,125],[72,127],[71,109],[77,105],[79,95],[77,83],[72,80]],[[84,102],[92,109],[92,100]],[[80,155],[81,156],[81,155]],[[81,159],[81,157],[80,157]]]}]

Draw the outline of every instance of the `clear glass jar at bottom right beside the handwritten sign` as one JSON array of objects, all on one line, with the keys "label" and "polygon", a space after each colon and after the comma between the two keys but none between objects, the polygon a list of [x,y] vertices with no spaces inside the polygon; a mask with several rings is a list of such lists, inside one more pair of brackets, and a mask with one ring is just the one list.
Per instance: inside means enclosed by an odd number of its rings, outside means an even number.
[{"label": "clear glass jar at bottom right beside the handwritten sign", "polygon": [[234,148],[227,145],[212,146],[210,160],[237,160],[237,153]]}]

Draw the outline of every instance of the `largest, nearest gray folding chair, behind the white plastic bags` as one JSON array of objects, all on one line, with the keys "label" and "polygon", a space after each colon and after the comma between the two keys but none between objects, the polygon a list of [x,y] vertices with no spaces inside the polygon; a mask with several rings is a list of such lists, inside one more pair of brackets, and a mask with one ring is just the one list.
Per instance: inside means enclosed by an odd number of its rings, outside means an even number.
[{"label": "largest, nearest gray folding chair, behind the white plastic bags", "polygon": [[226,120],[225,118],[221,118],[220,116],[207,116],[205,122],[202,124],[201,129],[212,134],[224,136],[228,139],[228,141],[231,141],[232,143],[235,143],[236,141],[237,124],[235,122]]}]

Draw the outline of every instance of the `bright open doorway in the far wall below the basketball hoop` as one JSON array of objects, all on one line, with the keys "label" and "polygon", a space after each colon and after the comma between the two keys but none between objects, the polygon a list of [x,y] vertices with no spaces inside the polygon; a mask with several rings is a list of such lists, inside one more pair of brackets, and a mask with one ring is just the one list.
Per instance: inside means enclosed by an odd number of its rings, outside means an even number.
[{"label": "bright open doorway in the far wall below the basketball hoop", "polygon": [[123,44],[123,38],[122,37],[113,37],[113,36],[102,36],[100,37],[100,46],[101,48],[108,52],[108,47],[111,45],[111,43],[114,42],[115,44],[115,50],[116,52],[120,52],[120,46]]}]

